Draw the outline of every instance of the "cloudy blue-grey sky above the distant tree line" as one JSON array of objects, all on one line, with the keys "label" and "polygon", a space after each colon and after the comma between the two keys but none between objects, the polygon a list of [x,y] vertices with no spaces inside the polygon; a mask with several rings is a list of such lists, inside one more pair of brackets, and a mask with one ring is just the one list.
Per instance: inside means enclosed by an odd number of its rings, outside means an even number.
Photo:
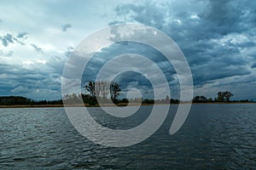
[{"label": "cloudy blue-grey sky above the distant tree line", "polygon": [[[120,23],[153,26],[172,37],[188,60],[194,96],[215,98],[228,90],[235,94],[232,99],[256,100],[256,2],[252,0],[1,1],[0,95],[61,99],[68,55],[90,34]],[[155,59],[167,75],[172,97],[178,97],[172,65],[143,44],[103,48],[91,68],[98,69],[110,55],[131,52]],[[93,77],[91,72],[84,73],[85,82]],[[123,88],[142,89],[147,97],[150,83],[143,75],[131,71],[116,80]]]}]

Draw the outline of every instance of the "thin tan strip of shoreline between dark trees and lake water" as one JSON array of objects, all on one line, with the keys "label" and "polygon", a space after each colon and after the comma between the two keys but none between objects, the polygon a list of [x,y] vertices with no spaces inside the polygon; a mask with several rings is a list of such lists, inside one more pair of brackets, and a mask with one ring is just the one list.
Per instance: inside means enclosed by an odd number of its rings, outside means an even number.
[{"label": "thin tan strip of shoreline between dark trees and lake water", "polygon": [[[181,103],[186,104],[186,103]],[[192,103],[192,105],[207,105],[207,104],[256,104],[256,102],[207,102],[207,103]],[[117,106],[126,106],[125,103],[119,103]],[[136,103],[130,105],[138,105]],[[141,105],[154,105],[154,104],[141,104]],[[168,104],[155,104],[155,105],[168,105]],[[178,105],[178,104],[171,104]],[[44,108],[44,107],[100,107],[100,105],[0,105],[0,109],[3,108]],[[103,106],[115,106],[115,105],[103,105]]]}]

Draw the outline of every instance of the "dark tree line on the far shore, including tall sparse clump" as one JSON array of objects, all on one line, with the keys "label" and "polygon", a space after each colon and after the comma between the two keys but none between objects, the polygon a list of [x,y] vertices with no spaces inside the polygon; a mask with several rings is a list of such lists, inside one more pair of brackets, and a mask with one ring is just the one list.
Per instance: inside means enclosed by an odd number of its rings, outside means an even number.
[{"label": "dark tree line on the far shore, including tall sparse clump", "polygon": [[[170,99],[166,95],[166,99],[119,99],[121,94],[121,87],[117,82],[87,82],[84,84],[83,94],[66,94],[63,99],[56,100],[34,100],[27,99],[22,96],[0,96],[0,105],[63,105],[63,100],[65,104],[75,105],[79,101],[83,100],[84,104],[87,105],[98,105],[98,101],[101,103],[109,103],[113,101],[114,104],[124,104],[127,105],[131,103],[143,103],[143,104],[179,104],[178,99]],[[193,103],[211,103],[211,102],[249,102],[248,99],[245,100],[230,100],[234,94],[229,91],[218,92],[217,97],[207,98],[206,96],[195,96],[192,99]]]}]

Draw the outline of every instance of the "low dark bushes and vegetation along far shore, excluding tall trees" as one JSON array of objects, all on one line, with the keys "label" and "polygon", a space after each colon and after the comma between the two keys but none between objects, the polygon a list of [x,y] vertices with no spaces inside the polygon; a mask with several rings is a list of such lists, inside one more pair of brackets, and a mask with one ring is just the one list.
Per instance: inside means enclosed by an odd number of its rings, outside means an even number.
[{"label": "low dark bushes and vegetation along far shore, excluding tall trees", "polygon": [[[84,105],[79,105],[78,100],[79,98],[82,98],[84,100]],[[0,108],[27,108],[27,107],[98,107],[100,106],[96,100],[94,99],[88,99],[89,96],[82,94],[82,95],[67,95],[65,99],[57,99],[57,100],[33,100],[33,99],[27,99],[22,96],[2,96],[0,97]],[[63,105],[63,101],[65,105]],[[86,103],[87,102],[87,103]],[[193,104],[241,104],[241,103],[247,103],[247,104],[253,104],[256,103],[253,100],[243,99],[243,100],[227,100],[227,99],[207,99],[205,96],[195,96],[195,98],[192,100]],[[106,102],[105,104],[102,104],[103,106],[125,106],[125,105],[168,105],[168,104],[179,104],[179,103],[187,103],[187,102],[181,102],[178,99],[169,99],[168,96],[166,96],[166,99],[116,99],[114,101],[114,104],[108,104]]]}]

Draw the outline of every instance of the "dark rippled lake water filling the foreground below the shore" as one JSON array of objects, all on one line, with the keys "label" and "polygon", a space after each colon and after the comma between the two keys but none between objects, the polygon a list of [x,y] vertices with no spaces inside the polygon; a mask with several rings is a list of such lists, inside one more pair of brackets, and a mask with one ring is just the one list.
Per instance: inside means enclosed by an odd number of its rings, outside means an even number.
[{"label": "dark rippled lake water filling the foreground below the shore", "polygon": [[[106,127],[143,122],[152,106],[120,121],[89,108]],[[64,108],[0,109],[0,169],[256,169],[256,105],[192,105],[169,134],[177,105],[153,136],[125,148],[94,144],[69,122]]]}]

